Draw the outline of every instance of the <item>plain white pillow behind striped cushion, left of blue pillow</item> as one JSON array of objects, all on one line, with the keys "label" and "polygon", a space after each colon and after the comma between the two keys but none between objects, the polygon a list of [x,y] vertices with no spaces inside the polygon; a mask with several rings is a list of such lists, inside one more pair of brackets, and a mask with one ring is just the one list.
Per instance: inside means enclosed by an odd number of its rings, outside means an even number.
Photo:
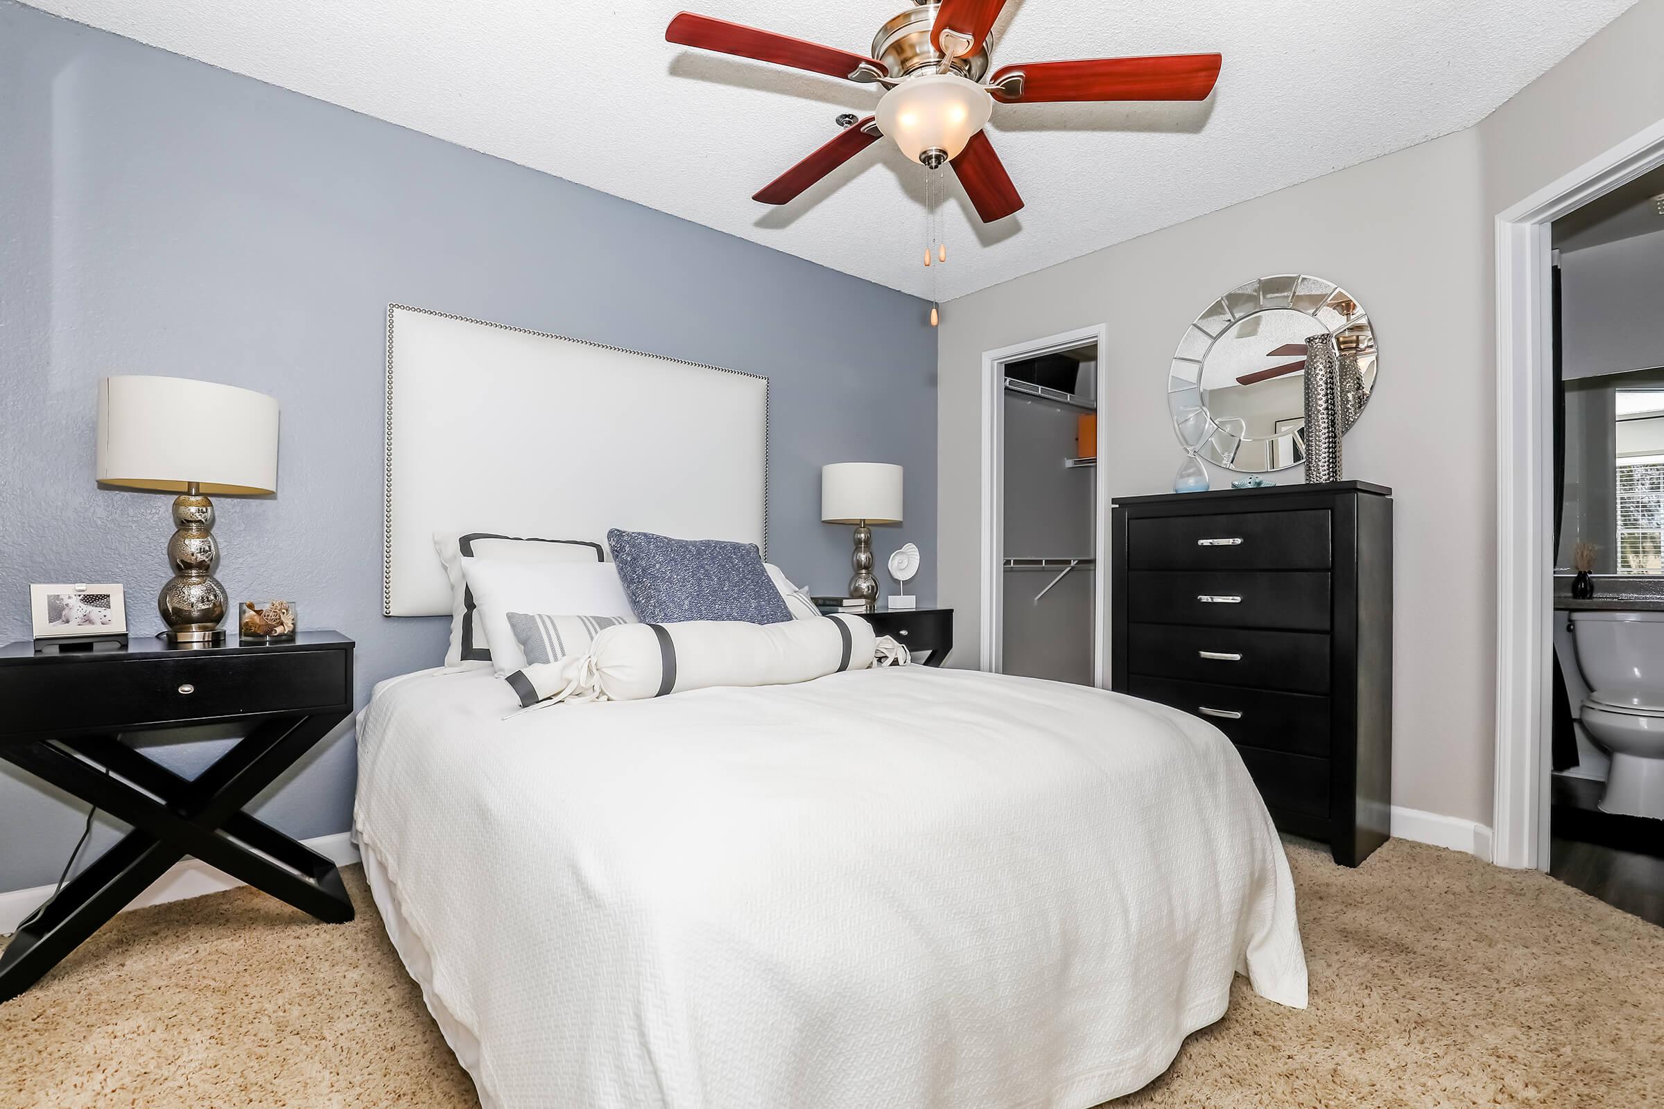
[{"label": "plain white pillow behind striped cushion, left of blue pillow", "polygon": [[624,617],[631,624],[629,597],[611,562],[511,562],[508,559],[463,559],[463,579],[474,599],[476,622],[491,643],[491,667],[514,673],[526,665],[511,612],[552,615]]}]

